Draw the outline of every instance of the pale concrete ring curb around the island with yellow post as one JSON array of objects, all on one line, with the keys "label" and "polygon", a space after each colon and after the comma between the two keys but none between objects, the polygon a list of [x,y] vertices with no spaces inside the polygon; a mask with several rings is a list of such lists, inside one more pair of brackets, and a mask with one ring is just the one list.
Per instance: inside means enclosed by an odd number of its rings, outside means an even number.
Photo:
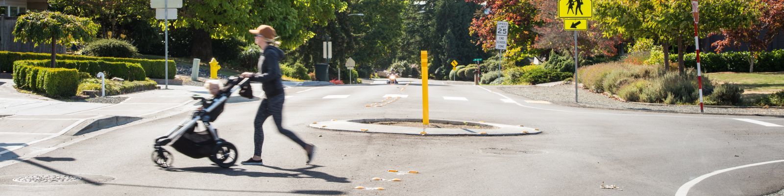
[{"label": "pale concrete ring curb around the island with yellow post", "polygon": [[[455,124],[461,123],[466,125],[484,126],[485,128],[495,129],[441,129],[441,128],[417,128],[406,126],[394,125],[374,125],[368,122],[421,122],[422,119],[415,118],[368,118],[368,119],[352,119],[352,120],[336,120],[329,122],[314,122],[311,123],[311,128],[326,129],[333,131],[347,131],[347,132],[372,132],[372,133],[389,133],[389,134],[402,134],[402,135],[419,135],[419,136],[521,136],[539,134],[539,129],[528,128],[520,125],[503,125],[487,122],[464,122],[431,119],[430,122]],[[424,133],[423,133],[424,132]]]}]

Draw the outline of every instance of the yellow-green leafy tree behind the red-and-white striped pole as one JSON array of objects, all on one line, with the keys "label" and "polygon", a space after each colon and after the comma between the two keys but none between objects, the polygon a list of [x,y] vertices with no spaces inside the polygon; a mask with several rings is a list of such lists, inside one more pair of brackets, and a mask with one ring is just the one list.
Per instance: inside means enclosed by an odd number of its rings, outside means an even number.
[{"label": "yellow-green leafy tree behind the red-and-white striped pole", "polygon": [[[721,27],[744,27],[759,12],[754,0],[700,1],[702,36]],[[691,3],[678,0],[597,0],[596,20],[605,36],[655,38],[662,44],[665,67],[669,67],[670,45],[677,44],[679,70],[684,71],[684,38],[693,36]]]}]

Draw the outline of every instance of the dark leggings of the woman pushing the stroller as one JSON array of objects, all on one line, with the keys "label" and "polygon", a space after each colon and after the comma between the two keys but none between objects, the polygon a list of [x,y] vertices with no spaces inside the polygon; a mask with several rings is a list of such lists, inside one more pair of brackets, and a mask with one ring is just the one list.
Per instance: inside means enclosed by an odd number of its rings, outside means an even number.
[{"label": "dark leggings of the woman pushing the stroller", "polygon": [[264,121],[267,118],[272,116],[275,121],[275,125],[278,125],[278,132],[283,133],[283,135],[288,136],[289,139],[294,140],[300,147],[303,149],[307,146],[303,140],[300,140],[294,132],[289,131],[289,129],[283,128],[283,101],[285,100],[285,95],[281,94],[278,96],[267,97],[267,99],[261,100],[261,105],[259,106],[259,111],[256,112],[256,120],[253,121],[253,129],[255,130],[255,134],[253,134],[253,141],[254,141],[254,148],[253,148],[253,155],[261,156],[261,147],[264,143],[264,130],[262,125],[264,125]]}]

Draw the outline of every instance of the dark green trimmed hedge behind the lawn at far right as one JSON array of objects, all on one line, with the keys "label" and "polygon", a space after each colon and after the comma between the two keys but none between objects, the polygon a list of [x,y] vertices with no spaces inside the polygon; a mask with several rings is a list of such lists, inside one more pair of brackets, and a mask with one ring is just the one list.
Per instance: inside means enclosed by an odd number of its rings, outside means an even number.
[{"label": "dark green trimmed hedge behind the lawn at far right", "polygon": [[[749,52],[728,53],[700,53],[702,72],[749,72]],[[695,68],[697,65],[695,53],[684,55],[686,67]],[[670,60],[677,62],[677,55],[671,55]],[[760,53],[754,63],[754,72],[784,71],[784,50]]]}]

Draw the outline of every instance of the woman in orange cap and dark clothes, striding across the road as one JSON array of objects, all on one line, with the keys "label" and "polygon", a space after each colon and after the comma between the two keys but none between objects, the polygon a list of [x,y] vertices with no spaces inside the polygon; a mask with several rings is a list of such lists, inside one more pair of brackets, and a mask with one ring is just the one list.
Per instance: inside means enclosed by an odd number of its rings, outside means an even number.
[{"label": "woman in orange cap and dark clothes, striding across the road", "polygon": [[278,38],[278,35],[275,33],[275,29],[268,25],[261,25],[256,29],[249,30],[249,32],[256,35],[256,45],[259,45],[263,51],[263,54],[259,57],[259,64],[257,64],[259,73],[254,74],[245,72],[241,74],[241,77],[250,78],[250,80],[253,82],[261,82],[261,87],[267,97],[261,100],[259,111],[256,112],[256,119],[253,121],[253,129],[255,132],[253,135],[253,157],[248,159],[248,161],[241,162],[241,164],[263,165],[261,159],[261,147],[264,143],[264,131],[262,126],[264,121],[266,121],[270,116],[272,116],[274,119],[275,125],[278,126],[278,132],[281,132],[283,135],[289,137],[289,139],[299,144],[299,146],[306,151],[306,163],[310,164],[310,160],[313,158],[313,153],[315,150],[314,145],[300,140],[299,137],[294,134],[294,132],[289,131],[289,129],[284,129],[282,125],[283,102],[285,100],[285,94],[283,92],[283,84],[281,81],[282,74],[279,63],[280,60],[283,59],[284,55],[283,51],[275,46],[280,44],[275,40]]}]

